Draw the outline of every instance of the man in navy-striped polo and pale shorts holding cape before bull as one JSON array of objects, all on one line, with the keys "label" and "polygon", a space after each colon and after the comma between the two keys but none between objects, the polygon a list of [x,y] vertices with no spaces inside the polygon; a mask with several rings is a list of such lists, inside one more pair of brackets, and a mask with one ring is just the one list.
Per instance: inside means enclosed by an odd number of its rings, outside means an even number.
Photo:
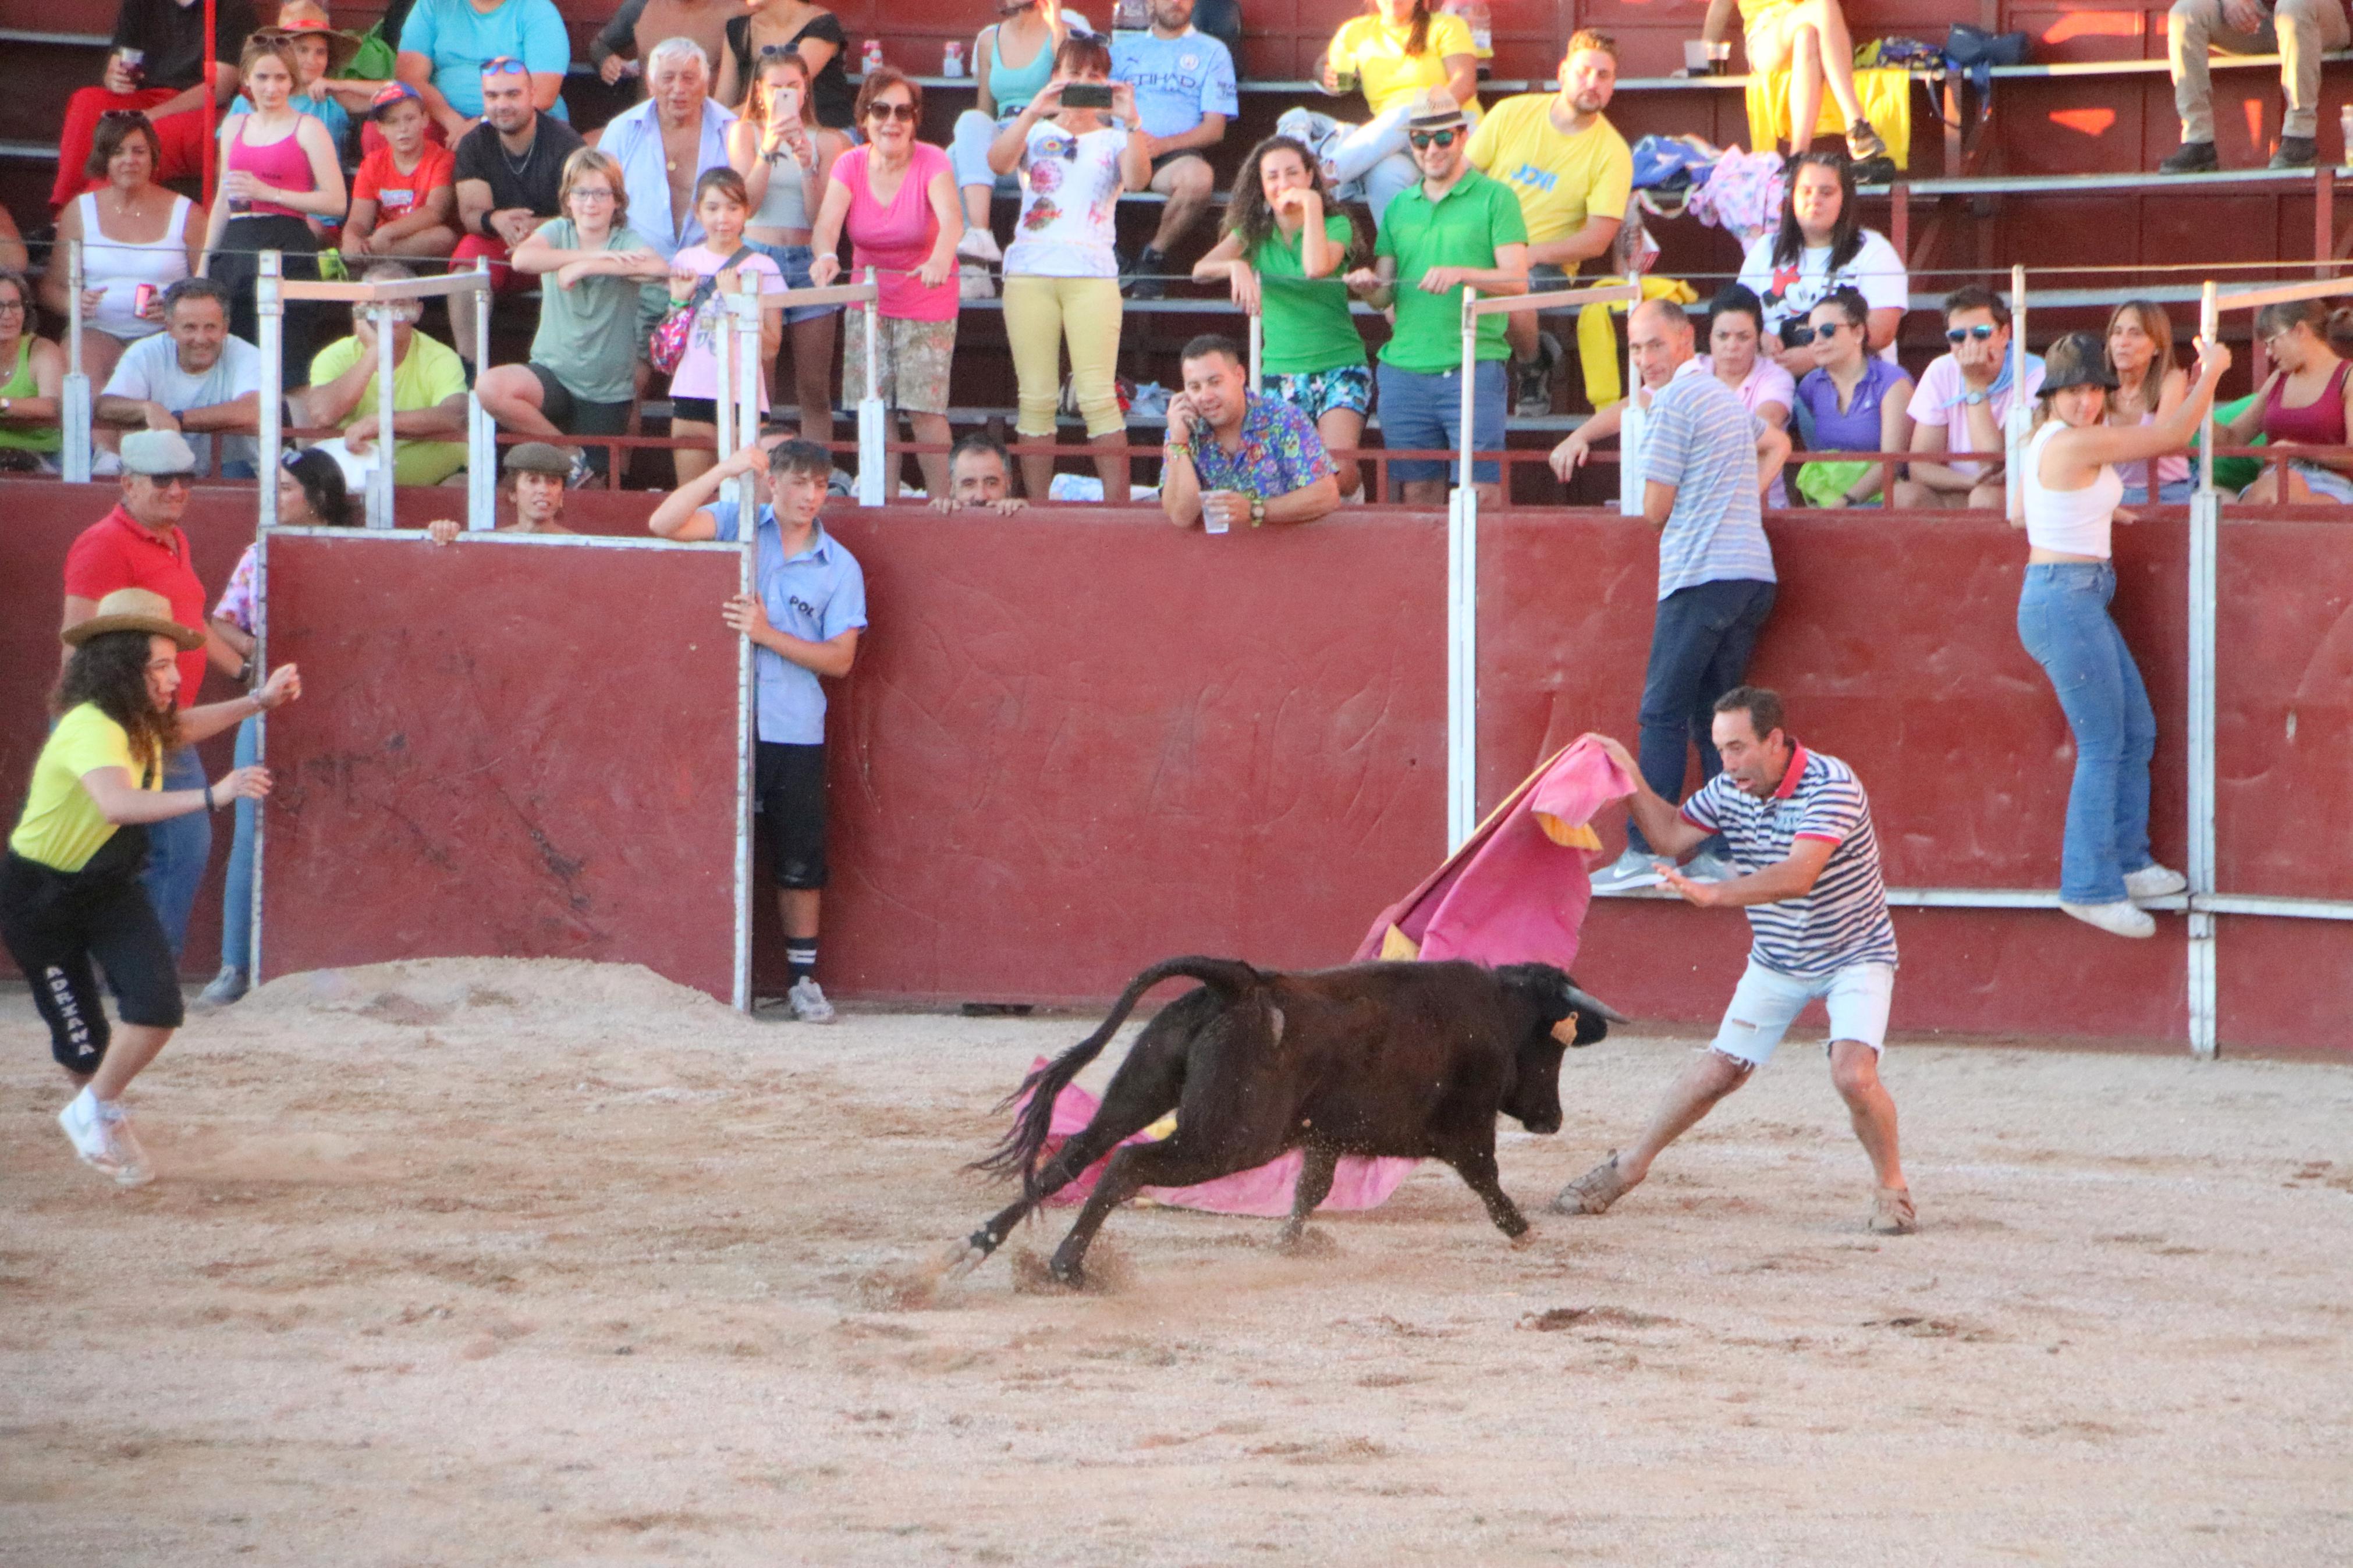
[{"label": "man in navy-striped polo and pale shorts holding cape before bull", "polygon": [[[1621,766],[1626,748],[1598,741]],[[1781,698],[1762,686],[1734,686],[1715,698],[1715,750],[1725,771],[1699,788],[1682,811],[1645,783],[1633,816],[1661,860],[1659,875],[1704,910],[1748,910],[1748,971],[1732,992],[1715,1044],[1694,1060],[1652,1114],[1631,1150],[1612,1150],[1553,1199],[1558,1213],[1602,1213],[1645,1175],[1649,1161],[1692,1131],[1718,1100],[1762,1067],[1791,1020],[1817,997],[1831,1013],[1831,1081],[1847,1100],[1854,1135],[1871,1157],[1878,1197],[1871,1229],[1911,1234],[1911,1190],[1897,1157],[1897,1103],[1880,1084],[1887,1004],[1897,983],[1897,931],[1887,919],[1880,844],[1871,799],[1838,757],[1788,738]],[[1722,832],[1739,870],[1727,882],[1694,882],[1671,863]]]}]

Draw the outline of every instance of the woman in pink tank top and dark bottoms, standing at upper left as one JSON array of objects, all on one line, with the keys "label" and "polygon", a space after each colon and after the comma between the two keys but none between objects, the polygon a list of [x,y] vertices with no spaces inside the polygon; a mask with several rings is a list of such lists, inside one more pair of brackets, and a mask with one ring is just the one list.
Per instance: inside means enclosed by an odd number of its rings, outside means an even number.
[{"label": "woman in pink tank top and dark bottoms, standing at upper left", "polygon": [[[282,252],[285,275],[318,280],[318,237],[308,219],[344,216],[344,165],[325,122],[299,115],[294,54],[285,33],[254,33],[238,61],[254,113],[221,125],[221,190],[205,226],[205,277],[228,289],[228,331],[256,343],[254,277],[261,252]],[[311,383],[315,306],[289,303],[280,336],[285,386]]]}]

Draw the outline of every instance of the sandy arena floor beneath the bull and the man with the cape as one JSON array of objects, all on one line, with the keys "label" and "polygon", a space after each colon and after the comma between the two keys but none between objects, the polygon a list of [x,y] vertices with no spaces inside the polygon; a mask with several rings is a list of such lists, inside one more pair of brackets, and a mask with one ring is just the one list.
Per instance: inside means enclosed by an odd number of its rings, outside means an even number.
[{"label": "sandy arena floor beneath the bull and the man with the cape", "polygon": [[[1892,1053],[1925,1229],[1880,1241],[1793,1044],[1527,1248],[1424,1171],[1320,1255],[1139,1211],[1099,1295],[1000,1255],[889,1305],[1082,1032],[296,976],[139,1084],[162,1178],[118,1192],[0,997],[0,1561],[2353,1561],[2353,1070]],[[1504,1185],[1687,1048],[1572,1056]]]}]

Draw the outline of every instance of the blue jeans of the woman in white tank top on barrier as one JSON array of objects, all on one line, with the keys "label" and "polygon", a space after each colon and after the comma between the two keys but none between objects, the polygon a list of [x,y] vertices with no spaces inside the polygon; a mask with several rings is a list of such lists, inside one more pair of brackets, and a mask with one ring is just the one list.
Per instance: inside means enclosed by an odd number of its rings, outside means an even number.
[{"label": "blue jeans of the woman in white tank top on barrier", "polygon": [[2108,618],[2113,597],[2115,567],[2106,562],[2028,567],[2019,595],[2019,642],[2042,665],[2075,736],[2059,851],[2059,896],[2068,903],[2115,903],[2125,896],[2125,872],[2151,863],[2148,759],[2158,750],[2158,715],[2125,635]]}]

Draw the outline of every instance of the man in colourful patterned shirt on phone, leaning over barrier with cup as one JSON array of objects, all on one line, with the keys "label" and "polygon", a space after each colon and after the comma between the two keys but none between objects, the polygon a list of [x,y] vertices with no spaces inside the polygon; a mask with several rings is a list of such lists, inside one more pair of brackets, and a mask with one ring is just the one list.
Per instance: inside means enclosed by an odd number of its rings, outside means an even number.
[{"label": "man in colourful patterned shirt on phone, leaning over barrier with cup", "polygon": [[1339,473],[1315,423],[1280,397],[1257,397],[1233,339],[1184,346],[1184,393],[1169,400],[1160,510],[1209,534],[1261,522],[1315,522],[1339,505]]}]

